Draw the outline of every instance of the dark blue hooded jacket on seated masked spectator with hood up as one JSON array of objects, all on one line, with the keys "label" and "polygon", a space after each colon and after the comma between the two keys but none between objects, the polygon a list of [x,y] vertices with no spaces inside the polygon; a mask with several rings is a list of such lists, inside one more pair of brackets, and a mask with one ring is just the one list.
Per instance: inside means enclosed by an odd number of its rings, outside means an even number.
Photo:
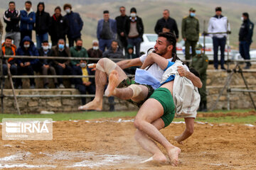
[{"label": "dark blue hooded jacket on seated masked spectator with hood up", "polygon": [[[25,41],[31,42],[30,46],[28,47],[28,50],[26,50],[25,47],[24,47],[24,42]],[[29,38],[28,36],[25,36],[23,38],[23,40],[21,41],[21,46],[18,47],[16,55],[39,56],[38,50],[36,49],[35,45],[33,44],[33,41],[31,40],[31,38]],[[22,58],[22,59],[17,59],[16,60],[16,63],[18,65],[21,64],[21,62],[22,63],[30,62],[31,65],[33,65],[33,64],[37,64],[38,63],[38,59]]]}]

